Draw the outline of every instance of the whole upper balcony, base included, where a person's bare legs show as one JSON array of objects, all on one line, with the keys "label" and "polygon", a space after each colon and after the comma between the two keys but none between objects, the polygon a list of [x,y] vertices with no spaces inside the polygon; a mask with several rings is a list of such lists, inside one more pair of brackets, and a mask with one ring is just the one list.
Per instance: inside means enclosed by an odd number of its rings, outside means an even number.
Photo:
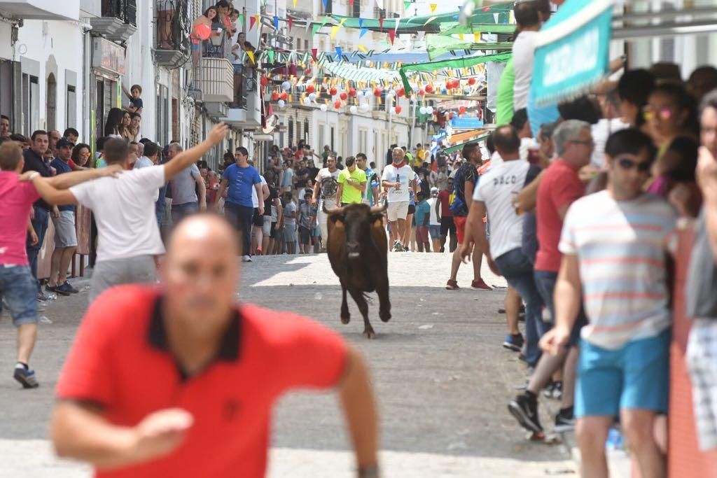
[{"label": "whole upper balcony, base included, where a person's bare legs show", "polygon": [[189,61],[191,22],[186,0],[159,0],[154,19],[154,60],[177,68]]}]

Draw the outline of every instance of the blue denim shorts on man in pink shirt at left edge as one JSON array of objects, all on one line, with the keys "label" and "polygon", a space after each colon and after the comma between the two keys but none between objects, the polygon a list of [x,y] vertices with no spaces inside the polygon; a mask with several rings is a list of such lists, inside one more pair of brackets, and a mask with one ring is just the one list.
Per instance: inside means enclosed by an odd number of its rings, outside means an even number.
[{"label": "blue denim shorts on man in pink shirt at left edge", "polygon": [[37,280],[29,266],[0,265],[0,313],[3,300],[14,325],[37,323]]}]

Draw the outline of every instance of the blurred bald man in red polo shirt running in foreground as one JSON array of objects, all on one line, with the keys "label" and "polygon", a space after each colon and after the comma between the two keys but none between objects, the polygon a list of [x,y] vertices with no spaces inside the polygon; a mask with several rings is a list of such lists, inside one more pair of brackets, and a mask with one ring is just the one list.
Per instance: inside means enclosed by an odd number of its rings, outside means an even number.
[{"label": "blurred bald man in red polo shirt running in foreground", "polygon": [[377,477],[363,360],[303,317],[236,305],[237,236],[223,218],[176,226],[161,290],[92,303],[57,386],[52,440],[98,477],[263,477],[272,407],[293,388],[337,387],[359,477]]}]

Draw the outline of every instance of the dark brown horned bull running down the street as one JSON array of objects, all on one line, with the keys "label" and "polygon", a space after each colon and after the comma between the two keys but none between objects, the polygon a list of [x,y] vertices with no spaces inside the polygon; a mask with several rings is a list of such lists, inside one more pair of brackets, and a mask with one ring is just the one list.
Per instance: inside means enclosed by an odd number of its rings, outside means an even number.
[{"label": "dark brown horned bull running down the street", "polygon": [[328,210],[328,244],[326,252],[331,269],[341,282],[341,322],[348,324],[351,315],[346,304],[346,291],[351,294],[364,316],[364,337],[374,338],[369,322],[366,292],[379,295],[379,317],[391,319],[389,302],[388,243],[384,231],[383,214],[386,206],[373,208],[365,204],[351,204]]}]

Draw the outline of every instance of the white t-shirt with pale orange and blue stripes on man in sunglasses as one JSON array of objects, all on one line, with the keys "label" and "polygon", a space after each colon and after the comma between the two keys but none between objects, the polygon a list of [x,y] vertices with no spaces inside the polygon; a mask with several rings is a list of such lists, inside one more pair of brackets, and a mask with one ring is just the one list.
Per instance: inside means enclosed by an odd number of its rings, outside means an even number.
[{"label": "white t-shirt with pale orange and blue stripes on man in sunglasses", "polygon": [[602,191],[570,206],[559,249],[578,256],[584,340],[617,349],[670,327],[666,259],[676,220],[670,204],[647,193],[615,201]]}]

